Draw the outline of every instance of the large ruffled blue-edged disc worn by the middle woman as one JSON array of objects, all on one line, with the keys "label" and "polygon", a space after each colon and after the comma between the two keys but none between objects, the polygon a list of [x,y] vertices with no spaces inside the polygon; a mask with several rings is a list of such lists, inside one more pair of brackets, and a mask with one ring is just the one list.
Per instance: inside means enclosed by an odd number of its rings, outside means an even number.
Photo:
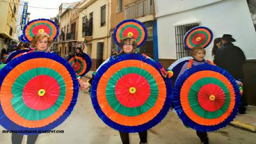
[{"label": "large ruffled blue-edged disc worn by the middle woman", "polygon": [[111,57],[92,83],[93,108],[110,127],[141,132],[161,122],[170,108],[172,84],[163,68],[141,54]]}]

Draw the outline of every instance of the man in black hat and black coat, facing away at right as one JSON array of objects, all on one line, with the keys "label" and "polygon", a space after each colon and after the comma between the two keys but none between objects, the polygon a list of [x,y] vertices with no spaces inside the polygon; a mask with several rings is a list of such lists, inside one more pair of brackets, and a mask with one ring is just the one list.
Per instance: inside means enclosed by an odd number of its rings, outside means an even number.
[{"label": "man in black hat and black coat, facing away at right", "polygon": [[[236,80],[242,81],[243,64],[246,60],[244,52],[239,47],[232,44],[232,42],[236,42],[236,40],[232,38],[232,35],[223,35],[221,41],[223,45],[216,51],[214,63],[218,67],[227,70]],[[238,84],[242,84],[238,81]],[[244,112],[244,97],[241,97],[241,107],[239,108],[239,113],[243,114]]]}]

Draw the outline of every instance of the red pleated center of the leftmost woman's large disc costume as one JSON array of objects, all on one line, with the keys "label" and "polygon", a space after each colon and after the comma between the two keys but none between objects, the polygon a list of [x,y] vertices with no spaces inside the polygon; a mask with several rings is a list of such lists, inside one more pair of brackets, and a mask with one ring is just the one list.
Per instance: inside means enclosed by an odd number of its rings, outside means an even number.
[{"label": "red pleated center of the leftmost woman's large disc costume", "polygon": [[[41,89],[45,90],[44,96],[38,95]],[[55,104],[60,95],[60,86],[53,77],[40,75],[28,81],[22,95],[26,106],[43,111]]]}]

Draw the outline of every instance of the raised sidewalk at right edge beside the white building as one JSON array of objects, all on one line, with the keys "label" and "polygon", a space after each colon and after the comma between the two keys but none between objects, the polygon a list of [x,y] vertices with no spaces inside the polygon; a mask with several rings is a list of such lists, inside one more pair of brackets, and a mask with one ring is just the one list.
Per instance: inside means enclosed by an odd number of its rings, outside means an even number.
[{"label": "raised sidewalk at right edge beside the white building", "polygon": [[247,106],[245,114],[238,114],[230,125],[256,132],[256,106]]}]

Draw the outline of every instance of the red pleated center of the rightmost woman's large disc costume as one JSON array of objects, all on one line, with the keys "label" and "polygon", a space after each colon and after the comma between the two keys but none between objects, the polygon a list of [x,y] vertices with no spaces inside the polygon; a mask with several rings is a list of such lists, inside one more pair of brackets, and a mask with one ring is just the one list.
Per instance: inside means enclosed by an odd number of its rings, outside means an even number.
[{"label": "red pleated center of the rightmost woman's large disc costume", "polygon": [[[215,96],[214,100],[210,99],[211,95]],[[205,84],[198,92],[198,102],[206,111],[217,111],[225,103],[225,93],[216,84]]]}]

